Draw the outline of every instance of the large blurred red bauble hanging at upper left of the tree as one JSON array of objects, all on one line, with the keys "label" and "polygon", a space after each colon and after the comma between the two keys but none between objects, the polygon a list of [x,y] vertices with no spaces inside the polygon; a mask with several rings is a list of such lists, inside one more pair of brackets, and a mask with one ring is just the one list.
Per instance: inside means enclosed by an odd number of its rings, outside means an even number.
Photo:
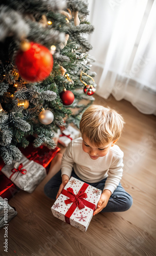
[{"label": "large blurred red bauble hanging at upper left of the tree", "polygon": [[31,82],[42,81],[53,69],[53,56],[50,51],[35,42],[23,42],[15,62],[19,75]]}]

